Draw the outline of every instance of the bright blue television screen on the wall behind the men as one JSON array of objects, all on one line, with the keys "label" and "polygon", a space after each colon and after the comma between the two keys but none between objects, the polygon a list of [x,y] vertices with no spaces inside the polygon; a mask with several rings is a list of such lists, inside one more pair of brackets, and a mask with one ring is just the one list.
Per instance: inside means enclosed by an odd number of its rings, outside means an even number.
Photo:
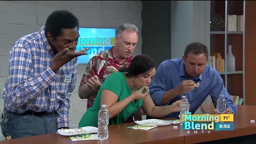
[{"label": "bright blue television screen on the wall behind the men", "polygon": [[88,55],[78,57],[78,64],[88,64],[95,54],[110,49],[115,45],[115,28],[79,28],[79,38],[76,50],[79,52],[84,48],[89,48]]}]

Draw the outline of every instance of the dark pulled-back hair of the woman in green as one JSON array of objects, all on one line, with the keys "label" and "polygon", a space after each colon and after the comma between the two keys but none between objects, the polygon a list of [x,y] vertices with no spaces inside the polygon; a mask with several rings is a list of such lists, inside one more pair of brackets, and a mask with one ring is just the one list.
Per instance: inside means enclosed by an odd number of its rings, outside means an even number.
[{"label": "dark pulled-back hair of the woman in green", "polygon": [[148,55],[137,55],[132,59],[128,68],[120,68],[119,72],[123,72],[126,76],[138,76],[155,68],[155,62]]}]

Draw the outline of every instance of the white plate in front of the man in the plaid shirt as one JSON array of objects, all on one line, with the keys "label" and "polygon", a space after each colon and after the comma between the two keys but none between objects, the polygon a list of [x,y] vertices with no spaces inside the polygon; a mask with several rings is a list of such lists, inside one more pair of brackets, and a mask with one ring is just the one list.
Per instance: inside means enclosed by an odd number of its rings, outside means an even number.
[{"label": "white plate in front of the man in the plaid shirt", "polygon": [[82,134],[97,134],[98,128],[94,126],[84,126],[82,128],[73,128],[73,129],[59,129],[57,130],[58,134],[63,136],[74,136]]}]

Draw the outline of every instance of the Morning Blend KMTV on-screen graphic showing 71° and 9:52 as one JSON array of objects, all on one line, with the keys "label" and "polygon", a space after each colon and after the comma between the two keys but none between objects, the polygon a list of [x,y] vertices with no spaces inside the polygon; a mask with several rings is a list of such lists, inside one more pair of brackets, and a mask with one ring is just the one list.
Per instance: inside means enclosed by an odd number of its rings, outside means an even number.
[{"label": "Morning Blend KMTV on-screen graphic showing 71\u00b0 and 9:52", "polygon": [[210,133],[211,130],[234,130],[234,114],[191,114],[182,115],[182,130],[188,133]]}]

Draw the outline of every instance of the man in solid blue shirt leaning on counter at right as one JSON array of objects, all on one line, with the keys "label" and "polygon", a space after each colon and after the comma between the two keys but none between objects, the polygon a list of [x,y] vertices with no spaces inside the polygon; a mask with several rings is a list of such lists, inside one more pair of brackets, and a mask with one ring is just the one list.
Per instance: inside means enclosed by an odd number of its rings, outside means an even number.
[{"label": "man in solid blue shirt leaning on counter at right", "polygon": [[[208,95],[216,107],[220,94],[226,99],[226,114],[236,114],[237,106],[233,104],[219,72],[206,65],[208,50],[204,44],[193,42],[186,46],[184,56],[162,62],[150,86],[150,95],[158,106],[170,105],[186,95],[190,103],[190,112],[194,114]],[[200,86],[196,87],[195,84]],[[178,116],[174,112],[165,118]]]}]

